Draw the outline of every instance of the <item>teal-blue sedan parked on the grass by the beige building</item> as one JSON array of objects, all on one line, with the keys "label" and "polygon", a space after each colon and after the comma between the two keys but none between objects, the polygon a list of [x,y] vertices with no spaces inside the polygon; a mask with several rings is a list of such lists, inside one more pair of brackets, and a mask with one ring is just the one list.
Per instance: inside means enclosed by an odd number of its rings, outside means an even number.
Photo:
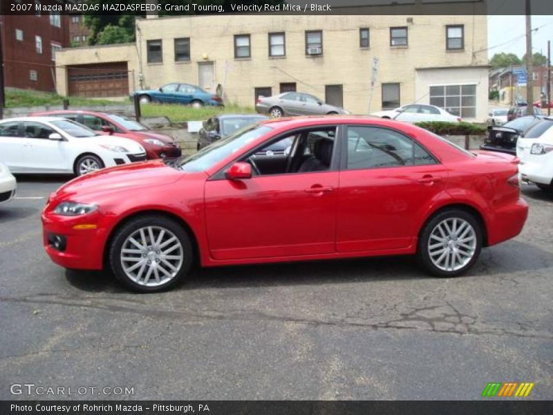
[{"label": "teal-blue sedan parked on the grass by the beige building", "polygon": [[131,94],[131,99],[134,98],[134,95],[138,95],[142,103],[161,102],[164,104],[185,104],[191,105],[194,108],[201,108],[203,106],[223,106],[223,100],[220,96],[206,92],[199,86],[179,84],[177,82],[164,85],[160,89],[135,91]]}]

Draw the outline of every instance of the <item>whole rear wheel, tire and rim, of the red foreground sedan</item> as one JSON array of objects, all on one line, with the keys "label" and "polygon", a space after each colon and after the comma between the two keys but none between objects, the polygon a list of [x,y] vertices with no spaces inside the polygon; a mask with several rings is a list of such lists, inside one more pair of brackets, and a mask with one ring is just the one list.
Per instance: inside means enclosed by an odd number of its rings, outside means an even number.
[{"label": "whole rear wheel, tire and rim, of the red foreground sedan", "polygon": [[431,218],[418,241],[419,261],[436,277],[469,270],[482,248],[482,225],[465,210],[444,210]]}]

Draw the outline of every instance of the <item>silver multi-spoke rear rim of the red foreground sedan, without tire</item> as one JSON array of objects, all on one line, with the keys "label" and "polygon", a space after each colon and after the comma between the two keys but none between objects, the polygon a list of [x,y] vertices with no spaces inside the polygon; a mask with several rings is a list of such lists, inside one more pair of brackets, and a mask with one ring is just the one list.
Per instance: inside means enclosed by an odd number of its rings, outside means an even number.
[{"label": "silver multi-spoke rear rim of the red foreground sedan, without tire", "polygon": [[476,231],[465,219],[444,219],[430,234],[429,257],[442,271],[460,270],[474,257],[474,252]]}]

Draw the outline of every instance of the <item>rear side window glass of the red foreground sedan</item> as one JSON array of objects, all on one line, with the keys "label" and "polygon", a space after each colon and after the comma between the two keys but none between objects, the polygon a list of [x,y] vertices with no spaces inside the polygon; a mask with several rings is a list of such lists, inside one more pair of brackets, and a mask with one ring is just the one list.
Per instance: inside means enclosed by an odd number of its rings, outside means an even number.
[{"label": "rear side window glass of the red foreground sedan", "polygon": [[431,165],[435,159],[417,142],[379,127],[348,127],[347,169]]}]

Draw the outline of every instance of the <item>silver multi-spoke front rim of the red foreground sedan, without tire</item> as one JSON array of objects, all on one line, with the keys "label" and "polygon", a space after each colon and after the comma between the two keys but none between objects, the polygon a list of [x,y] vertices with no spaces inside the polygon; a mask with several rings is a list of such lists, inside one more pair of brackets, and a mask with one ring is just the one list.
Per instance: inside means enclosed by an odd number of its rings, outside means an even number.
[{"label": "silver multi-spoke front rim of the red foreground sedan, without tire", "polygon": [[135,230],[120,252],[121,266],[129,279],[141,286],[167,284],[184,262],[184,250],[173,232],[160,226]]}]

